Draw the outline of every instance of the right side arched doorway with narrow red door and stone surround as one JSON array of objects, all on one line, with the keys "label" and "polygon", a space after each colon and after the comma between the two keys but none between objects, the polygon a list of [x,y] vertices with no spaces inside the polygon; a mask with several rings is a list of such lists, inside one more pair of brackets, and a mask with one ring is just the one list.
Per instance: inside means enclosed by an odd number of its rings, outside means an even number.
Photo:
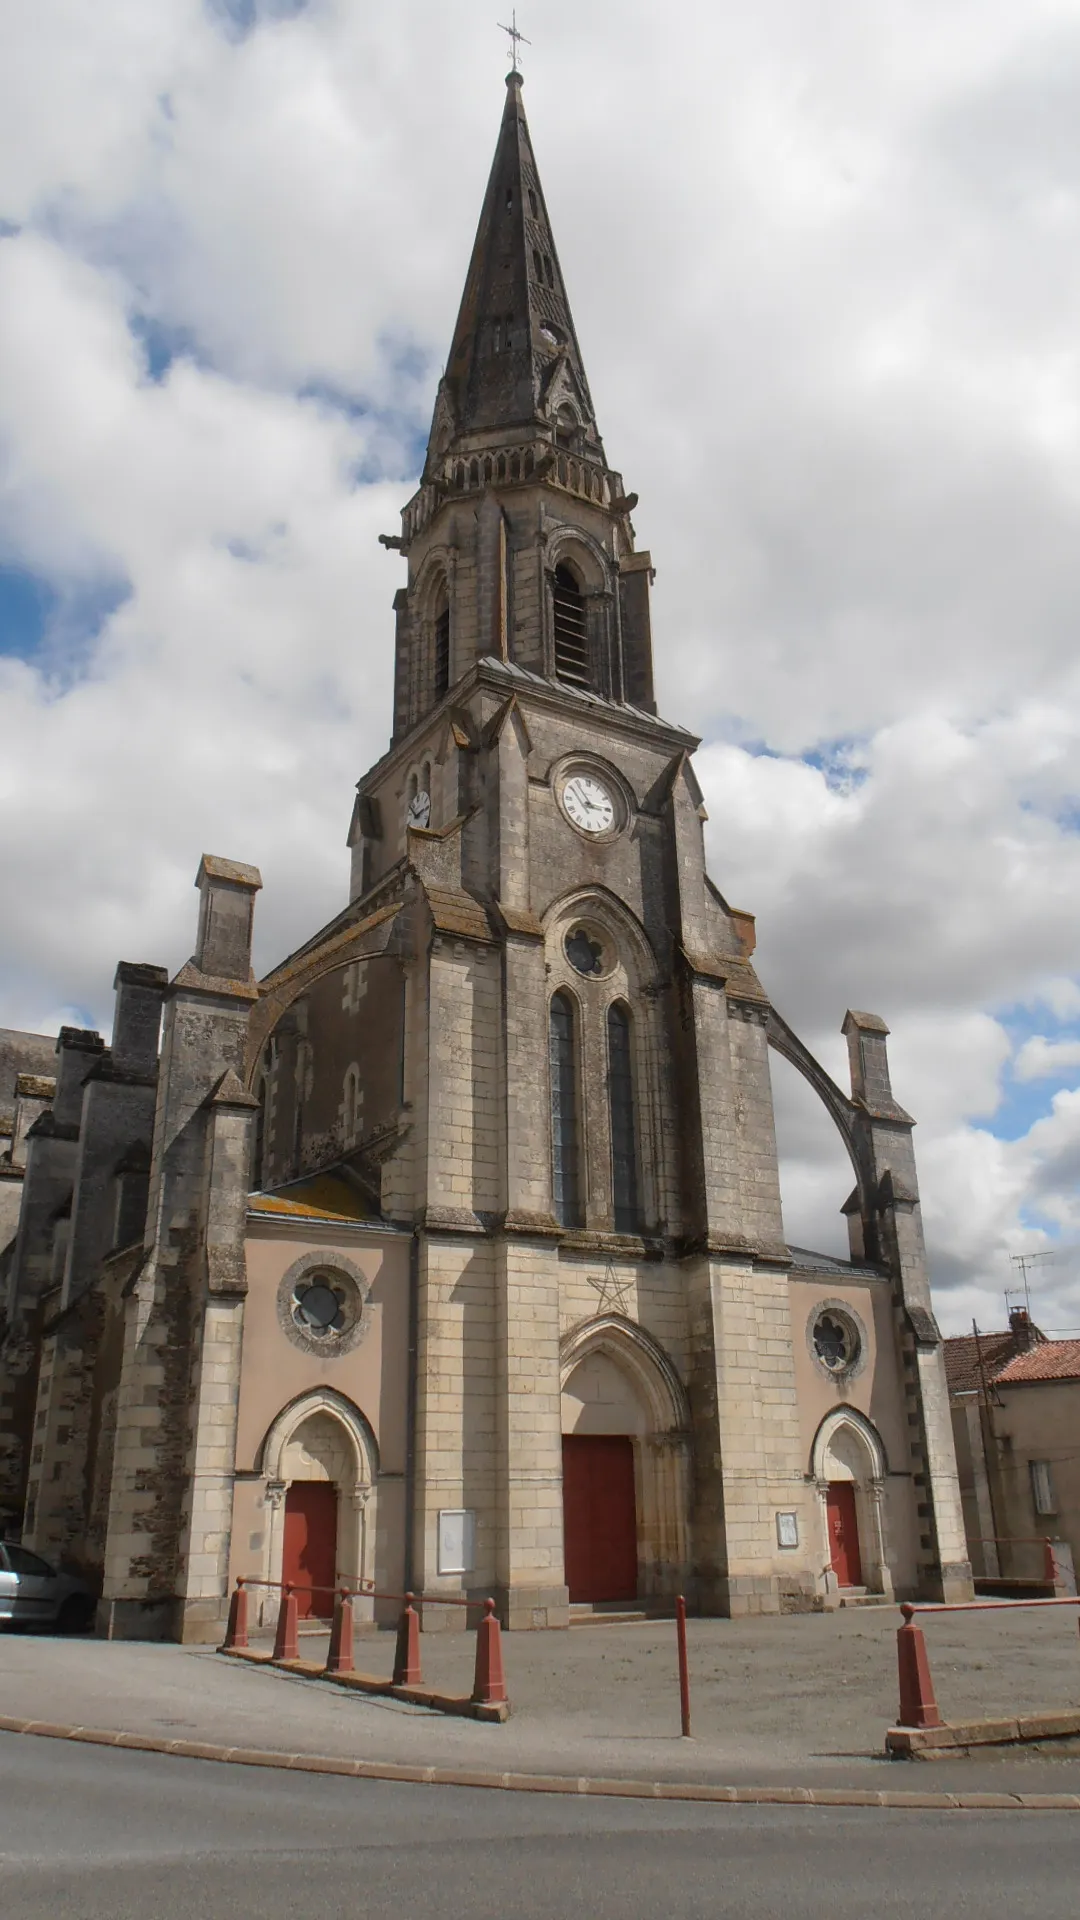
[{"label": "right side arched doorway with narrow red door and stone surround", "polygon": [[822,1419],[813,1442],[822,1565],[840,1592],[892,1594],[884,1534],[886,1455],[878,1430],[853,1407]]}]

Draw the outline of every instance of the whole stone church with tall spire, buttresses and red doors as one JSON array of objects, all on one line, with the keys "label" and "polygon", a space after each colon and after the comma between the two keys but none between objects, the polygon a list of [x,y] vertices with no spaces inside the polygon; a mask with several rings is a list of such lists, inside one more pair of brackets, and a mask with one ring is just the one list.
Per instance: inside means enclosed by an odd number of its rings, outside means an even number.
[{"label": "whole stone church with tall spire, buttresses and red doors", "polygon": [[[102,1634],[213,1642],[236,1576],[513,1630],[970,1596],[888,1027],[838,1087],[705,872],[634,507],[511,73],[348,902],[256,979],[259,874],[206,854],[110,1044],[0,1035],[0,1530]],[[771,1050],[847,1260],[786,1242]]]}]

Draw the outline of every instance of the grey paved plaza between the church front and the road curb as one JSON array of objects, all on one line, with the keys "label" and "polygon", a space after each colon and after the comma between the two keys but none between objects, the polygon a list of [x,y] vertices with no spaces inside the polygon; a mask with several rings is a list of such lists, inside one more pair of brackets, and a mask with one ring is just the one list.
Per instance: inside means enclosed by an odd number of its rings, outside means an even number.
[{"label": "grey paved plaza between the church front and the road curb", "polygon": [[[690,1620],[694,1738],[678,1732],[675,1622],[503,1636],[505,1726],[448,1718],[325,1682],[263,1672],[206,1647],[0,1636],[0,1715],[436,1766],[809,1786],[1003,1786],[1076,1791],[1080,1753],[1024,1749],[901,1766],[882,1755],[896,1718],[896,1607],[759,1620]],[[1080,1703],[1076,1611],[926,1617],[945,1718]],[[269,1640],[265,1642],[269,1651]],[[321,1634],[300,1651],[317,1659]],[[421,1636],[432,1688],[467,1693],[473,1634]],[[356,1663],[390,1676],[394,1636],[357,1634]]]}]

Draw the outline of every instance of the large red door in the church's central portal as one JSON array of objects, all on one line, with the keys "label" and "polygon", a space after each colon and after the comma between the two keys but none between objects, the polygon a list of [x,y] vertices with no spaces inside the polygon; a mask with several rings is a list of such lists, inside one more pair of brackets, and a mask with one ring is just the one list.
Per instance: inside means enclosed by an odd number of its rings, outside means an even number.
[{"label": "large red door in the church's central portal", "polygon": [[563,1528],[571,1599],[638,1597],[638,1509],[630,1438],[565,1434]]}]

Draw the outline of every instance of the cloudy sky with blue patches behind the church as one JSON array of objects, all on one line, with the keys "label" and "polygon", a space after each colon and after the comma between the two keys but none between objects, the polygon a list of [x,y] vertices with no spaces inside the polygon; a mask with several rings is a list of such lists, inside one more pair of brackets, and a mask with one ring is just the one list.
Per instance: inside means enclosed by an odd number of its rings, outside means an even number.
[{"label": "cloudy sky with blue patches behind the church", "polygon": [[[505,10],[502,10],[505,12]],[[494,0],[0,0],[0,1023],[108,1029],[200,852],[267,966],[384,749],[377,545],[502,111]],[[1080,6],[546,0],[527,108],[711,868],[938,1306],[1080,1329]],[[849,1173],[780,1062],[792,1238]]]}]

